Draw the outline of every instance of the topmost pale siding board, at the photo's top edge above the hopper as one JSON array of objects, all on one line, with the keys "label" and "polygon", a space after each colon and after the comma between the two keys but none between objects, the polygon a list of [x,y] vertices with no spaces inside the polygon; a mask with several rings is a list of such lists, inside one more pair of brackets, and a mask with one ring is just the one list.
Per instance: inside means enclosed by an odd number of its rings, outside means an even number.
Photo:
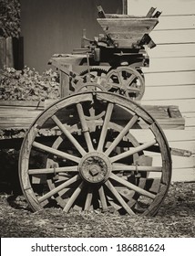
[{"label": "topmost pale siding board, at the photo's top edge above the hopper", "polygon": [[128,15],[145,16],[151,6],[162,11],[163,16],[168,15],[194,15],[194,0],[128,0]]}]

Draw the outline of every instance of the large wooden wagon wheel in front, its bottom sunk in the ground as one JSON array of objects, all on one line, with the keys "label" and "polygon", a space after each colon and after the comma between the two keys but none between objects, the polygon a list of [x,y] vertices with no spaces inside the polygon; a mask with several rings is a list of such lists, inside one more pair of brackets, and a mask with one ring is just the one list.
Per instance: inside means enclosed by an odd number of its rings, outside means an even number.
[{"label": "large wooden wagon wheel in front, its bottom sunk in the ground", "polygon": [[[40,137],[47,129],[54,134],[49,140]],[[36,154],[42,165],[35,165]],[[56,202],[65,212],[154,215],[169,189],[169,145],[136,102],[87,91],[57,101],[36,119],[21,148],[19,176],[34,210]]]}]

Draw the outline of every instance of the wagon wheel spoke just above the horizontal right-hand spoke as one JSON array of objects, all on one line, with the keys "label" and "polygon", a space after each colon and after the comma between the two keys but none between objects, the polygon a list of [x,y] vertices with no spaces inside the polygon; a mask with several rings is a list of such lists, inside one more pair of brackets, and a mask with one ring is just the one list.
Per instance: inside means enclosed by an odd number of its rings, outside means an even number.
[{"label": "wagon wheel spoke just above the horizontal right-hand spoke", "polygon": [[133,147],[133,148],[130,148],[128,151],[124,152],[124,153],[121,153],[119,155],[116,155],[116,156],[113,156],[113,157],[110,157],[110,161],[111,163],[114,163],[122,158],[125,158],[125,157],[128,157],[130,155],[133,155],[133,154],[136,154],[146,148],[148,148],[149,146],[153,145],[153,144],[156,144],[156,140],[152,140],[150,141],[149,143],[146,143],[146,144],[141,144],[137,147]]}]

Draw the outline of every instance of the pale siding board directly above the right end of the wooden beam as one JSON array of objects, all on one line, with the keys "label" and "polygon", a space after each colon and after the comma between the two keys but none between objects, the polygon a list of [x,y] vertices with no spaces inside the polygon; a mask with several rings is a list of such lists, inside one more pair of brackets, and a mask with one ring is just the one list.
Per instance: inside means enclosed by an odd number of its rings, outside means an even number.
[{"label": "pale siding board directly above the right end of the wooden beam", "polygon": [[[148,88],[147,88],[148,90]],[[143,105],[177,105],[180,108],[180,112],[181,114],[185,113],[185,112],[191,112],[192,110],[195,109],[195,99],[191,98],[191,99],[185,99],[185,100],[181,100],[181,99],[171,99],[171,100],[156,100],[155,98],[150,99],[150,100],[142,100],[141,103]]]}]

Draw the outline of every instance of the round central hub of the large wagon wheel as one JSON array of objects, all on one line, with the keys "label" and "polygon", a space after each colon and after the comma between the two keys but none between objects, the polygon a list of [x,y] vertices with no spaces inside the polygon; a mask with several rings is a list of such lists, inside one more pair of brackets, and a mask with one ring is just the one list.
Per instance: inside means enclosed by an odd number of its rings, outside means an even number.
[{"label": "round central hub of the large wagon wheel", "polygon": [[80,176],[87,183],[100,184],[108,180],[111,163],[106,155],[94,152],[85,155],[79,164]]}]

